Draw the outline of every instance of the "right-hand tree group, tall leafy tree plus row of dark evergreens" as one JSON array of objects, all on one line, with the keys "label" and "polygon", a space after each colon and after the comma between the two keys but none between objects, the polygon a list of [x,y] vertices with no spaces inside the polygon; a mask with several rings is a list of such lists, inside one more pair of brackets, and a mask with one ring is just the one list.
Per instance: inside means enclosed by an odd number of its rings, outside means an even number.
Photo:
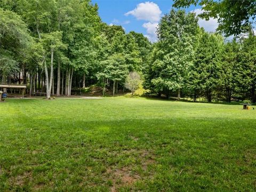
[{"label": "right-hand tree group, tall leafy tree plus row of dark evergreens", "polygon": [[[249,28],[250,29],[250,28]],[[256,37],[253,30],[225,42],[199,28],[194,13],[165,15],[150,52],[145,87],[157,94],[256,102]]]}]

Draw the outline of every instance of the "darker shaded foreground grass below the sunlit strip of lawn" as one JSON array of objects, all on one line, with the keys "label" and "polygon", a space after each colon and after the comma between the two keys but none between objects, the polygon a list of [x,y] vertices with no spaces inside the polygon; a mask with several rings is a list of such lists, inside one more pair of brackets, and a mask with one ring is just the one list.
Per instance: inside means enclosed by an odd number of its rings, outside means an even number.
[{"label": "darker shaded foreground grass below the sunlit strip of lawn", "polygon": [[[106,191],[115,182],[111,170],[136,175],[135,191],[221,190],[227,177],[229,189],[254,189],[255,119],[17,121],[17,130],[5,124],[0,135],[4,190],[39,183],[45,190]],[[153,164],[143,167],[145,159]]]}]

